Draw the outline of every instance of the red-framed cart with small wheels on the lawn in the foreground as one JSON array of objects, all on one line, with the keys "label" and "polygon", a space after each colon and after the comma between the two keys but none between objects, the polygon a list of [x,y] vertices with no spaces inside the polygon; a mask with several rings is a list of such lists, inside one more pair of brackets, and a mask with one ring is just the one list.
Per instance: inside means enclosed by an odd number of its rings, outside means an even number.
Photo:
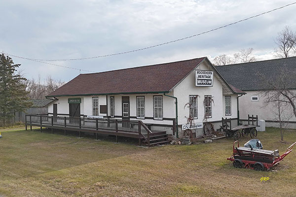
[{"label": "red-framed cart with small wheels on the lawn in the foreground", "polygon": [[[237,143],[237,147],[235,147],[235,143]],[[240,147],[239,142],[235,141],[233,142],[233,154],[231,157],[227,158],[227,160],[233,162],[233,166],[238,168],[246,167],[255,170],[270,169],[279,162],[283,161],[283,159],[289,153],[291,153],[292,148],[295,144],[296,142],[289,146],[287,151],[280,156],[278,150],[270,151],[257,149],[254,148],[252,145],[249,145],[249,147]],[[262,144],[260,144],[259,147],[262,147]]]}]

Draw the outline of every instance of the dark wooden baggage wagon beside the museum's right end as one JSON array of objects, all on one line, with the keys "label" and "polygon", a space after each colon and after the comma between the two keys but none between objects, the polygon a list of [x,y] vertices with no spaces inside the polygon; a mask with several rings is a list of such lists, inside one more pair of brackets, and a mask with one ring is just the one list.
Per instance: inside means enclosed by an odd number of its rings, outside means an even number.
[{"label": "dark wooden baggage wagon beside the museum's right end", "polygon": [[248,115],[248,124],[239,125],[233,128],[231,128],[230,119],[222,118],[222,126],[220,128],[222,131],[225,132],[226,137],[233,137],[234,140],[239,140],[241,136],[246,137],[248,134],[250,134],[251,138],[256,137],[257,136],[256,127],[259,127],[258,116],[254,117],[253,115],[252,116]]}]

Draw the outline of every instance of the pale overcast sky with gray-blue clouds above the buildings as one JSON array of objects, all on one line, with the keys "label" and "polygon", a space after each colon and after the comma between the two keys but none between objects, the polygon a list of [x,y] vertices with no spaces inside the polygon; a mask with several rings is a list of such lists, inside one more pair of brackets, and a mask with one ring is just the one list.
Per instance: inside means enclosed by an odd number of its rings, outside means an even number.
[{"label": "pale overcast sky with gray-blue clouds above the buildings", "polygon": [[[84,58],[124,52],[201,33],[274,9],[291,0],[0,0],[0,50],[35,59]],[[140,52],[54,64],[91,71],[144,66],[254,48],[273,59],[274,37],[296,31],[296,5],[190,39]],[[13,58],[29,79],[68,82],[79,74]],[[85,73],[81,71],[81,73]]]}]

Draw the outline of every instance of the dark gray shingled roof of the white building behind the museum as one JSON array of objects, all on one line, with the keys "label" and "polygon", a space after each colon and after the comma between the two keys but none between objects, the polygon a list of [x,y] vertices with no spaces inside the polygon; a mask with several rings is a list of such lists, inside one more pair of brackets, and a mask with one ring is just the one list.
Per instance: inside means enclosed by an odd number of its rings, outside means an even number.
[{"label": "dark gray shingled roof of the white building behind the museum", "polygon": [[216,66],[216,69],[229,84],[242,91],[270,89],[265,79],[276,79],[284,69],[289,72],[288,88],[296,89],[296,57]]}]

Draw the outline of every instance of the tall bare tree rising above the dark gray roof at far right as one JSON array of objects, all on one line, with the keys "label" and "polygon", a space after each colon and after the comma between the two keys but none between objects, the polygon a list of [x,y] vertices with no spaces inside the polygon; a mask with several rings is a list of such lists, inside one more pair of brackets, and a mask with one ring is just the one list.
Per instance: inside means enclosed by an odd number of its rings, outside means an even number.
[{"label": "tall bare tree rising above the dark gray roof at far right", "polygon": [[288,58],[296,55],[296,33],[286,26],[274,39],[277,48],[274,49],[275,56]]}]

